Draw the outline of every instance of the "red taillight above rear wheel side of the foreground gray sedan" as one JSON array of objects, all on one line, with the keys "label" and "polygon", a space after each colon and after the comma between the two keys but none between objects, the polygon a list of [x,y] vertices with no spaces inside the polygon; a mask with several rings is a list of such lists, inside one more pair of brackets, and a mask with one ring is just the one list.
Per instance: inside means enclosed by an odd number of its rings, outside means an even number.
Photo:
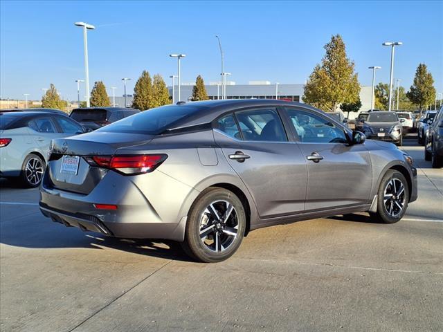
[{"label": "red taillight above rear wheel side of the foreground gray sedan", "polygon": [[114,169],[127,175],[149,173],[168,158],[166,154],[140,154],[120,156],[91,156],[85,157],[90,165],[102,168]]}]

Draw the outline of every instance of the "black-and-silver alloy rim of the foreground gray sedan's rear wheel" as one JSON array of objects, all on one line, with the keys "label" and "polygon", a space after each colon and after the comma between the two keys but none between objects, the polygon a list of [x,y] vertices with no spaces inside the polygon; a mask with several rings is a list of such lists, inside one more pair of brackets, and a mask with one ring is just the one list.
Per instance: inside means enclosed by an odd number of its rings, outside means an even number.
[{"label": "black-and-silver alloy rim of the foreground gray sedan's rear wheel", "polygon": [[206,249],[223,252],[237,238],[238,226],[234,205],[228,201],[214,201],[201,214],[200,240]]}]

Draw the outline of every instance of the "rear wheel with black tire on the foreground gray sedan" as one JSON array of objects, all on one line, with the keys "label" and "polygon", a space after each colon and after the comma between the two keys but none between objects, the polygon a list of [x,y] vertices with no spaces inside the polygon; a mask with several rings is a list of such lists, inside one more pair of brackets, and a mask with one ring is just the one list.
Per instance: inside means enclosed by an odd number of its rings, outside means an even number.
[{"label": "rear wheel with black tire on the foreground gray sedan", "polygon": [[[210,205],[214,210],[210,208]],[[233,207],[233,210],[224,220],[229,205]],[[214,213],[210,213],[210,210],[217,214],[218,219]],[[239,248],[245,228],[246,214],[242,201],[229,190],[210,187],[202,192],[192,204],[186,224],[185,241],[181,243],[181,246],[190,257],[197,261],[205,263],[224,261]],[[208,230],[203,233],[203,237],[202,230]],[[227,245],[226,248],[224,244]]]}]

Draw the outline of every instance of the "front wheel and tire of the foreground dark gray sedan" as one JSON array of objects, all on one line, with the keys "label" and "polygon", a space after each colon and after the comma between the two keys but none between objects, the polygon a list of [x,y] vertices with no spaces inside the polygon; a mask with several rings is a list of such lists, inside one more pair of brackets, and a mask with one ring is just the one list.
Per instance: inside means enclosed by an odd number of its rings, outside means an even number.
[{"label": "front wheel and tire of the foreground dark gray sedan", "polygon": [[[396,185],[392,185],[391,181],[395,181]],[[403,185],[403,192],[400,194],[398,194],[401,191],[401,186],[399,186],[399,183]],[[399,187],[397,188],[397,186]],[[393,187],[396,187],[397,192],[392,194],[390,199],[387,199],[385,202],[385,199],[389,197],[391,192],[394,192]],[[387,193],[386,196],[385,193]],[[370,216],[373,221],[380,223],[397,223],[397,221],[403,218],[409,202],[408,181],[406,181],[403,174],[395,169],[389,169],[381,179],[377,194],[377,212],[370,212]],[[395,201],[397,201],[397,203],[395,203]],[[401,209],[397,204],[401,205]]]}]

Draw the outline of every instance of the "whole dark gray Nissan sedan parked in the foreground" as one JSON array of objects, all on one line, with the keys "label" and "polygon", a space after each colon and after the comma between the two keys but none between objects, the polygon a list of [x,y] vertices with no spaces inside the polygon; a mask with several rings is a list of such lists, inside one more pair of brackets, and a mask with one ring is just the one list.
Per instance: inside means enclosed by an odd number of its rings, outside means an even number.
[{"label": "whole dark gray Nissan sedan parked in the foreground", "polygon": [[53,221],[172,239],[224,260],[257,228],[369,212],[395,223],[417,199],[410,156],[305,104],[179,103],[53,141],[40,187]]}]

